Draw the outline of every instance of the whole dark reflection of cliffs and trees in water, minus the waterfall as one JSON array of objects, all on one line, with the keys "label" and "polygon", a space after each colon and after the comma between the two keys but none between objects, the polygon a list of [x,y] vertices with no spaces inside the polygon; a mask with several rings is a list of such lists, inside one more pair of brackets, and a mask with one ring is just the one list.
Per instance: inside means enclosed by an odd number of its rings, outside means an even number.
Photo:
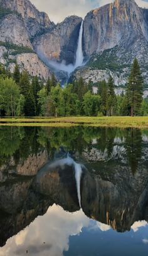
[{"label": "whole dark reflection of cliffs and trees in water, minus the waterfall", "polygon": [[[87,168],[80,187],[85,215],[119,232],[148,220],[146,132],[14,127],[0,135],[1,246],[53,203],[79,210],[74,165],[46,164],[48,156],[61,159],[67,151]],[[66,151],[56,152],[60,146]]]}]

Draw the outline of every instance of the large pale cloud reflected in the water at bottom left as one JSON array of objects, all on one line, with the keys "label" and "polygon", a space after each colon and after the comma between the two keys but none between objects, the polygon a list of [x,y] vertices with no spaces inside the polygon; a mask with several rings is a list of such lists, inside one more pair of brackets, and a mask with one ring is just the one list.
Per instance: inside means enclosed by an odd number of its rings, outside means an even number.
[{"label": "large pale cloud reflected in the water at bottom left", "polygon": [[33,256],[62,256],[69,248],[69,237],[78,235],[89,221],[82,210],[69,213],[53,205],[44,216],[38,216],[28,228],[10,238],[0,256],[23,256],[26,250]]}]

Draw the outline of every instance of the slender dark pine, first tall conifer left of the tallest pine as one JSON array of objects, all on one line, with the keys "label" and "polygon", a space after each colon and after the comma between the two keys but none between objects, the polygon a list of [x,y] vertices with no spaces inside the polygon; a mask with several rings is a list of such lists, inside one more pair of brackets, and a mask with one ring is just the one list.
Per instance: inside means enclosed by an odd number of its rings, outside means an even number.
[{"label": "slender dark pine, first tall conifer left of the tallest pine", "polygon": [[114,80],[110,76],[108,80],[108,93],[107,93],[107,114],[112,116],[116,110],[116,97],[115,97],[115,85]]}]

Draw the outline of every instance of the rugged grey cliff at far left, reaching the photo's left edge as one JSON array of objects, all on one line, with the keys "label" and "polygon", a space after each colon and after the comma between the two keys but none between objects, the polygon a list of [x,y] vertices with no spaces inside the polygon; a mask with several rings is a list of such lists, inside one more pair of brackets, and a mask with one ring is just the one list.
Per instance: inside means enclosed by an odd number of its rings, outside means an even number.
[{"label": "rugged grey cliff at far left, reaching the photo's left edge", "polygon": [[0,62],[13,72],[17,62],[20,70],[48,79],[51,72],[33,51],[31,40],[54,26],[45,13],[40,13],[28,0],[1,0]]}]

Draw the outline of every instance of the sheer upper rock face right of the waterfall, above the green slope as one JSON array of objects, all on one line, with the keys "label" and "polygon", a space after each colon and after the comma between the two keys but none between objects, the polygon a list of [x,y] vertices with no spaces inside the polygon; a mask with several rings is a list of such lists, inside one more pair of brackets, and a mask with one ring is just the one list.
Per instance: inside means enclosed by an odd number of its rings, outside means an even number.
[{"label": "sheer upper rock face right of the waterfall, above the green slope", "polygon": [[148,24],[143,9],[134,0],[115,0],[84,19],[83,50],[87,56],[117,45],[129,50],[139,38],[148,40]]}]

